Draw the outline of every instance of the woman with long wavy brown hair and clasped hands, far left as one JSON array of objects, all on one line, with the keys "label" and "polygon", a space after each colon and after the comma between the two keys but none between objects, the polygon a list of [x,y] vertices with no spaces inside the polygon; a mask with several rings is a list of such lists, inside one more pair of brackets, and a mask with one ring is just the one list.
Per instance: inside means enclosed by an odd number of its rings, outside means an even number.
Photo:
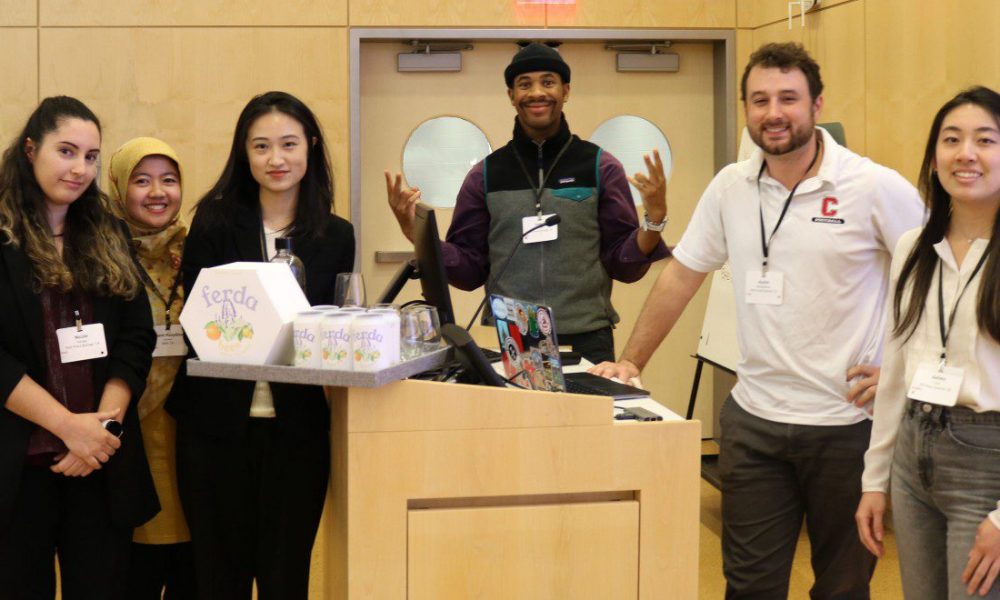
[{"label": "woman with long wavy brown hair and clasped hands, far left", "polygon": [[0,163],[4,598],[54,598],[54,553],[63,598],[124,598],[132,529],[159,510],[132,402],[155,336],[100,144],[86,106],[46,98]]}]

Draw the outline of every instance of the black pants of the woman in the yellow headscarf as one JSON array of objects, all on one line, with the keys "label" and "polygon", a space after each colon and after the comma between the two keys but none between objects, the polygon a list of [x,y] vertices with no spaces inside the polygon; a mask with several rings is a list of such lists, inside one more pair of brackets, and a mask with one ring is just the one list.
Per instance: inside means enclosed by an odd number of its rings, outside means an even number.
[{"label": "black pants of the woman in the yellow headscarf", "polygon": [[128,567],[129,600],[194,600],[191,543],[132,544]]}]

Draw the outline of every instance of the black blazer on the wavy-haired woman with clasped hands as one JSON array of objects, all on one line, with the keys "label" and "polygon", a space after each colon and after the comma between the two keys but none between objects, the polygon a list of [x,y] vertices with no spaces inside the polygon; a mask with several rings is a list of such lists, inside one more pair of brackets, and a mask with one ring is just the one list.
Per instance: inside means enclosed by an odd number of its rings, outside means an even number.
[{"label": "black blazer on the wavy-haired woman with clasped hands", "polygon": [[[42,338],[42,302],[32,291],[31,263],[20,249],[0,236],[0,528],[7,525],[21,481],[28,437],[36,427],[6,408],[7,398],[21,377],[42,384],[47,369]],[[91,361],[94,398],[104,385],[120,377],[132,391],[125,411],[121,448],[102,469],[106,473],[112,522],[137,527],[151,519],[160,505],[149,474],[136,407],[146,388],[156,335],[146,290],[125,300],[93,297],[94,319],[104,324],[108,354]]]}]

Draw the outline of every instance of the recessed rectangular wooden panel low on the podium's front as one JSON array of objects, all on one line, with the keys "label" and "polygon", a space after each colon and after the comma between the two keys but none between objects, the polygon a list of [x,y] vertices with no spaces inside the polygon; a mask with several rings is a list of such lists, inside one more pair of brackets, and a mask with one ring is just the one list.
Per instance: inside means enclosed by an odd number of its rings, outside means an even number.
[{"label": "recessed rectangular wooden panel low on the podium's front", "polygon": [[639,503],[417,509],[407,598],[618,598],[639,585]]}]

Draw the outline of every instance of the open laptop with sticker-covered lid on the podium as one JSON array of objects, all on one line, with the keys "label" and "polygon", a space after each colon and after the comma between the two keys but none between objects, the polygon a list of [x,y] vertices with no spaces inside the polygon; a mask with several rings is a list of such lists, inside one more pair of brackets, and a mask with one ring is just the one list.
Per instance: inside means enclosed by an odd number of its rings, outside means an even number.
[{"label": "open laptop with sticker-covered lid on the podium", "polygon": [[552,308],[490,294],[500,360],[511,383],[532,390],[644,398],[649,392],[591,373],[563,373]]}]

